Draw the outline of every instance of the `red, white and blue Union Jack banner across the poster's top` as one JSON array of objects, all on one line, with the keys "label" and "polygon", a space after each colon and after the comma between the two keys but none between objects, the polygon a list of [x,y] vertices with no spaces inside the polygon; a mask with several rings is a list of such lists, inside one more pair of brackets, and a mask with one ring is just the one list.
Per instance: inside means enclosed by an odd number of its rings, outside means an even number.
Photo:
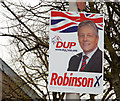
[{"label": "red, white and blue Union Jack banner across the poster's top", "polygon": [[59,33],[77,32],[78,24],[84,20],[92,20],[99,30],[103,30],[103,15],[93,13],[70,13],[51,11],[51,31]]}]

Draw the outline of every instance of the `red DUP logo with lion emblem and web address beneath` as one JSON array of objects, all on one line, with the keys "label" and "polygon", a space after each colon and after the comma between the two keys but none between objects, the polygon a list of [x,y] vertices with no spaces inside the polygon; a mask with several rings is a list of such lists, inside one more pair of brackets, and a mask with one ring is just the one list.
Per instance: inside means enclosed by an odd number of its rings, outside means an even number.
[{"label": "red DUP logo with lion emblem and web address beneath", "polygon": [[72,49],[76,46],[76,42],[67,42],[63,41],[59,36],[55,36],[52,38],[52,43],[55,45],[56,51],[64,51],[64,52],[77,52],[77,50]]}]

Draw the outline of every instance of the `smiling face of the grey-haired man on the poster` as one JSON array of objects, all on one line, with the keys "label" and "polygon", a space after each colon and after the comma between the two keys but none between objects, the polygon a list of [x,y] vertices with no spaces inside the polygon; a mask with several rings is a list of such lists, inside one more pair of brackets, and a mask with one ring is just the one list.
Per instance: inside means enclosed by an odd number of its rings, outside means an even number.
[{"label": "smiling face of the grey-haired man on the poster", "polygon": [[96,36],[93,27],[83,26],[79,29],[78,40],[81,48],[87,55],[97,47],[99,37]]}]

